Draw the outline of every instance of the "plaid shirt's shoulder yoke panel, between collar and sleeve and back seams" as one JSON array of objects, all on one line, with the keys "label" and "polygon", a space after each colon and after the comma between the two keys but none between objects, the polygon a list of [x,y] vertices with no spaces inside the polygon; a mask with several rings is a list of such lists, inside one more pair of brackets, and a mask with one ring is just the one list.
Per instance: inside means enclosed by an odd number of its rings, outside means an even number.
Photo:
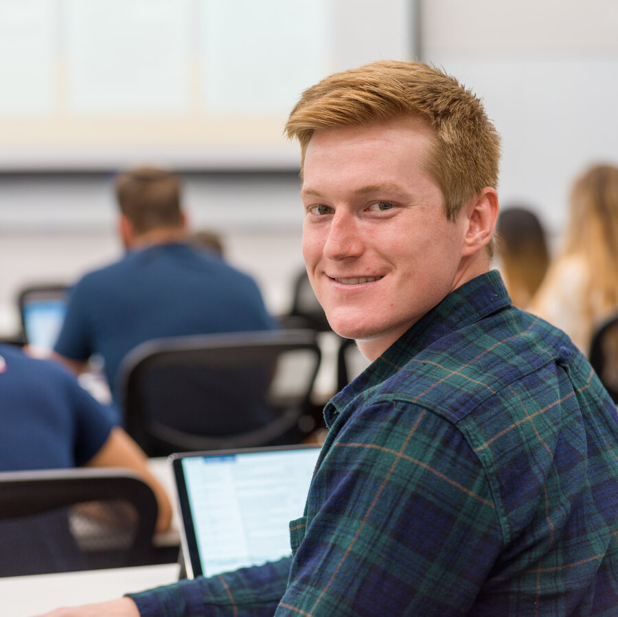
[{"label": "plaid shirt's shoulder yoke panel, between collar and sleeve and back seams", "polygon": [[556,362],[571,341],[516,307],[450,331],[410,358],[374,397],[409,401],[458,421],[530,373]]}]

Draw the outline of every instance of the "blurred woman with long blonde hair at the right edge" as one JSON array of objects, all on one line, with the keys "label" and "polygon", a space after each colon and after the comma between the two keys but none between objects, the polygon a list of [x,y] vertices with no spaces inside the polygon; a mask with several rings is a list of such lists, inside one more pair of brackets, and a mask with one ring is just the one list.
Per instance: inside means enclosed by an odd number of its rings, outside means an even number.
[{"label": "blurred woman with long blonde hair at the right edge", "polygon": [[595,327],[618,311],[618,167],[588,169],[575,181],[569,207],[564,250],[529,310],[587,354]]}]

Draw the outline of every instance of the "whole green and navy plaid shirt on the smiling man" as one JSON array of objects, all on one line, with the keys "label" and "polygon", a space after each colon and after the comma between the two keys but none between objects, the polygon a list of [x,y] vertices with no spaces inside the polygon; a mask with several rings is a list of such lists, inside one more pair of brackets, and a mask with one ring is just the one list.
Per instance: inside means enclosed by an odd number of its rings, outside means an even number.
[{"label": "whole green and navy plaid shirt on the smiling man", "polygon": [[293,557],[133,596],[141,615],[618,615],[618,418],[497,272],[325,408]]}]

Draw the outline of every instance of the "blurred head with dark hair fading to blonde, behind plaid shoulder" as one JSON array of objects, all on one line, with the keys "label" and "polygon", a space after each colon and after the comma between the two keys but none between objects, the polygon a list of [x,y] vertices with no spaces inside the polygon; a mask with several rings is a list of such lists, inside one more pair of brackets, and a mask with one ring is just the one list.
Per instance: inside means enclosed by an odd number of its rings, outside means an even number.
[{"label": "blurred head with dark hair fading to blonde, behind plaid shoulder", "polygon": [[501,211],[496,231],[499,270],[513,304],[525,309],[549,266],[545,229],[533,211],[512,206]]}]

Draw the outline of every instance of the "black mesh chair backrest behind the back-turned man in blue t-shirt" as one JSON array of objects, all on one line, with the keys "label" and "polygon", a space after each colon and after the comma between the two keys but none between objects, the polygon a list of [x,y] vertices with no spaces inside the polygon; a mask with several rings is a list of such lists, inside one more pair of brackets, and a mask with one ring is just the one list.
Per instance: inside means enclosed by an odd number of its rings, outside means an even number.
[{"label": "black mesh chair backrest behind the back-turned man in blue t-shirt", "polygon": [[126,430],[149,456],[297,443],[320,357],[311,330],[148,341],[119,369]]}]

